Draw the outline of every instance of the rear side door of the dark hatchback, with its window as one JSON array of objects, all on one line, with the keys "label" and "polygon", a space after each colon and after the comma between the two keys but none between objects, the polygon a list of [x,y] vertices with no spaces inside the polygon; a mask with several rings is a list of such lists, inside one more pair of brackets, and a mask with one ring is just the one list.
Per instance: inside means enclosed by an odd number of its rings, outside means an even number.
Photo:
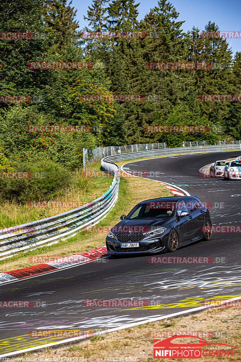
[{"label": "rear side door of the dark hatchback, with its window", "polygon": [[201,209],[201,203],[197,200],[188,198],[185,199],[186,206],[190,212],[190,216],[194,220],[194,238],[198,239],[202,237],[202,227],[205,220],[205,212]]}]

